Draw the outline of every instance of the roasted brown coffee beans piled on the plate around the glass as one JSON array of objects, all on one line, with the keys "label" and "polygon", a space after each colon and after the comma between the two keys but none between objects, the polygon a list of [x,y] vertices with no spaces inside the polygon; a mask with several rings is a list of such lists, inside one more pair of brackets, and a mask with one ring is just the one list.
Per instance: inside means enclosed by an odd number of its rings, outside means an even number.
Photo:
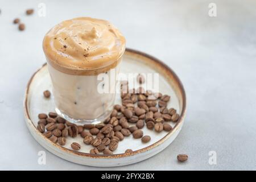
[{"label": "roasted brown coffee beans piled on the plate around the glass", "polygon": [[[138,82],[143,83],[144,78],[138,75]],[[44,91],[44,97],[51,94]],[[122,105],[114,105],[110,117],[97,125],[79,126],[58,117],[56,113],[41,113],[38,115],[38,130],[54,143],[64,146],[66,138],[75,138],[80,135],[83,143],[92,146],[90,154],[112,155],[117,150],[119,142],[130,135],[134,139],[141,139],[142,143],[150,142],[151,137],[143,134],[143,127],[156,133],[171,131],[168,122],[177,122],[179,114],[174,108],[167,108],[171,97],[150,90],[128,88],[128,82],[121,83]],[[80,150],[81,143],[73,142],[73,150]],[[127,149],[125,153],[133,152]]]}]

